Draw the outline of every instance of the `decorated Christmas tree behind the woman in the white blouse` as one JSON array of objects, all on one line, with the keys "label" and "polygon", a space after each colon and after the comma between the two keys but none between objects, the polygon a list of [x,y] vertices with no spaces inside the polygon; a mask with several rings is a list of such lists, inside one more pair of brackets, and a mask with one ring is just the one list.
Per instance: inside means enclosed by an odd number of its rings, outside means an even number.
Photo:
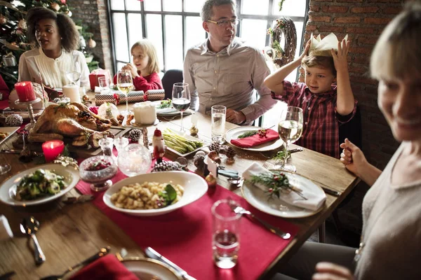
[{"label": "decorated Christmas tree behind the woman in the white blouse", "polygon": [[[28,43],[26,31],[27,23],[25,16],[27,10],[33,7],[44,7],[54,10],[56,13],[66,13],[70,17],[72,12],[67,6],[67,0],[0,0],[0,73],[9,89],[18,81],[18,62],[23,52],[31,50],[34,45]],[[95,48],[95,41],[91,33],[82,25],[78,27],[81,37],[79,45],[85,55],[90,70],[98,67],[97,61],[93,60],[91,53],[85,50],[86,41],[88,46]]]}]

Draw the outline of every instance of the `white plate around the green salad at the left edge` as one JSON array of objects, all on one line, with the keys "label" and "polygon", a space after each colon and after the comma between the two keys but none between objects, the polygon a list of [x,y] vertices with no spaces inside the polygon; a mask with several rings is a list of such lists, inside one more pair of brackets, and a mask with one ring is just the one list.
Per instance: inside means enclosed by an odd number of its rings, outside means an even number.
[{"label": "white plate around the green salad at the left edge", "polygon": [[[40,197],[35,200],[15,200],[16,188],[18,187],[20,180],[22,180],[25,175],[34,172],[36,169],[47,169],[54,172],[55,174],[63,176],[66,188],[60,190],[60,192],[56,193],[55,195],[48,195],[46,197]],[[79,182],[79,171],[74,167],[64,167],[57,163],[39,165],[37,167],[33,167],[15,174],[11,176],[11,178],[4,181],[0,187],[0,201],[12,206],[22,207],[43,204],[46,202],[51,202],[52,200],[56,200],[58,197],[65,195],[65,193],[69,192],[69,190],[72,190],[72,188],[76,186],[77,182]]]}]

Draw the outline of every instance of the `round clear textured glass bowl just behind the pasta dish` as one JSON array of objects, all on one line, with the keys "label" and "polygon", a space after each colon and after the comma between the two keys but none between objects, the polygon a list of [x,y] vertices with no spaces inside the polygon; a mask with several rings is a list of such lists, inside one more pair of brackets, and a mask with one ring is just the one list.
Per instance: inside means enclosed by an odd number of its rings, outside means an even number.
[{"label": "round clear textured glass bowl just behind the pasta dish", "polygon": [[117,160],[120,171],[129,177],[145,174],[152,163],[149,149],[140,144],[128,144],[119,151]]}]

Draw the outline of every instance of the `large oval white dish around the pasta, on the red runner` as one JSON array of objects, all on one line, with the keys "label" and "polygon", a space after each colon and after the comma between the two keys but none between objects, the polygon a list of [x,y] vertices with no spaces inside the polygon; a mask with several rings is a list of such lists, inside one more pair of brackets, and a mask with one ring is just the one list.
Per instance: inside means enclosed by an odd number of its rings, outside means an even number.
[{"label": "large oval white dish around the pasta, on the red runner", "polygon": [[[131,210],[123,209],[116,207],[114,203],[111,202],[111,196],[114,193],[117,193],[123,186],[128,186],[133,183],[143,183],[143,182],[156,182],[156,183],[170,183],[179,184],[184,188],[184,194],[181,199],[175,204],[171,204],[168,207],[163,207],[159,209],[149,209],[149,210]],[[208,183],[201,176],[194,174],[192,172],[184,171],[169,171],[169,172],[154,172],[148,174],[140,174],[138,176],[129,177],[115,183],[111,188],[109,188],[103,197],[103,200],[107,207],[110,207],[116,211],[120,211],[133,216],[158,216],[162,214],[167,214],[175,209],[185,207],[187,204],[195,202],[202,197],[208,190]]]}]

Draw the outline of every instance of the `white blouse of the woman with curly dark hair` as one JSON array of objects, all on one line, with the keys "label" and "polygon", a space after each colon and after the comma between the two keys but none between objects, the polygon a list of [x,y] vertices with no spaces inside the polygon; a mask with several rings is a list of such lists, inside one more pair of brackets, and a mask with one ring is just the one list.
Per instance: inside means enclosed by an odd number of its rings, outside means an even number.
[{"label": "white blouse of the woman with curly dark hair", "polygon": [[42,48],[35,48],[24,52],[19,59],[19,81],[29,80],[41,84],[39,73],[42,76],[42,83],[48,87],[62,87],[72,82],[67,78],[66,73],[75,71],[76,64],[81,71],[79,86],[89,86],[89,69],[82,52],[73,50],[66,52],[62,50],[60,57],[53,59],[44,54]]}]

